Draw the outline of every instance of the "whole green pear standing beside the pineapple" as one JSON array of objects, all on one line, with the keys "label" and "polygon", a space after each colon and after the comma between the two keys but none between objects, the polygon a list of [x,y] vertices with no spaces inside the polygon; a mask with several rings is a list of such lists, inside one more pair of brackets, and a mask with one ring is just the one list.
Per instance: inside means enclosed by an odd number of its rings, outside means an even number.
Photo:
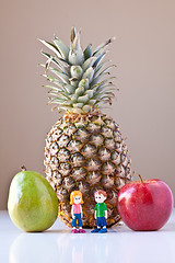
[{"label": "whole green pear standing beside the pineapple", "polygon": [[12,180],[8,210],[12,221],[26,232],[44,231],[58,216],[58,198],[39,173],[23,170]]}]

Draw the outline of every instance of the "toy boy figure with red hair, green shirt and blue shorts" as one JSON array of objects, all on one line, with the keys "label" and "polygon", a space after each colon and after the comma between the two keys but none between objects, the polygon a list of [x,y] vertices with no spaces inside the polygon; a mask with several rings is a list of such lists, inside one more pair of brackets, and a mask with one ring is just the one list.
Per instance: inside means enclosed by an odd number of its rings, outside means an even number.
[{"label": "toy boy figure with red hair, green shirt and blue shorts", "polygon": [[[94,217],[96,219],[96,226],[97,228],[95,228],[94,230],[92,230],[91,232],[100,232],[100,233],[104,233],[107,232],[106,229],[106,219],[107,219],[107,206],[104,203],[104,201],[107,198],[107,194],[105,191],[103,190],[98,190],[95,192],[95,208],[94,208]],[[102,227],[102,229],[101,229]]]}]

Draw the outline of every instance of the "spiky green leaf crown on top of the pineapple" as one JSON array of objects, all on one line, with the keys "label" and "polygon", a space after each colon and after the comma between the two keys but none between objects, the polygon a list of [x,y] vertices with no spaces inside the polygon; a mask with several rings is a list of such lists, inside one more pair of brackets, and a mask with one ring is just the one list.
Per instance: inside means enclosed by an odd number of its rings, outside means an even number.
[{"label": "spiky green leaf crown on top of the pineapple", "polygon": [[94,112],[105,103],[112,105],[112,99],[115,98],[112,80],[115,77],[109,76],[109,69],[116,66],[106,66],[110,60],[102,60],[114,39],[109,38],[94,52],[91,44],[82,49],[80,32],[75,27],[71,30],[70,47],[57,36],[54,37],[54,44],[39,39],[54,53],[42,52],[47,58],[46,64],[40,64],[45,68],[43,76],[51,82],[51,85],[44,85],[49,88],[48,104],[54,103],[57,105],[54,108],[78,114]]}]

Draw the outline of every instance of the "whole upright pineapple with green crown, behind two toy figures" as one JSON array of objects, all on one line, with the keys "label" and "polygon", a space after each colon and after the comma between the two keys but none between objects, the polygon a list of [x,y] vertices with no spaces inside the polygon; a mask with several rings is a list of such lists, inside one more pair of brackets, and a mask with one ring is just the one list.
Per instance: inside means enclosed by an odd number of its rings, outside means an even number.
[{"label": "whole upright pineapple with green crown, behind two toy figures", "polygon": [[[92,52],[80,44],[80,32],[70,34],[70,47],[55,36],[54,43],[39,39],[52,55],[47,58],[44,77],[48,103],[54,103],[63,115],[52,126],[46,138],[46,178],[59,201],[59,217],[71,227],[70,193],[83,194],[83,226],[96,226],[94,219],[94,192],[107,192],[107,226],[120,220],[116,207],[118,191],[131,181],[131,161],[118,124],[101,112],[104,104],[112,104],[114,77],[103,60],[106,47],[114,38]],[[51,72],[51,76],[47,72]]]}]

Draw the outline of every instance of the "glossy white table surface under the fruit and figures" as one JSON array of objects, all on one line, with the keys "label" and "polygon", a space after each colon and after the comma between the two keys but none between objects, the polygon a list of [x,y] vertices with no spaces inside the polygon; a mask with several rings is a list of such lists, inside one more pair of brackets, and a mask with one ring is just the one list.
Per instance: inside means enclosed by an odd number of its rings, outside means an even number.
[{"label": "glossy white table surface under the fruit and figures", "polygon": [[107,233],[71,233],[60,219],[45,232],[18,229],[0,211],[0,263],[175,263],[175,210],[159,231],[135,232],[125,225]]}]

